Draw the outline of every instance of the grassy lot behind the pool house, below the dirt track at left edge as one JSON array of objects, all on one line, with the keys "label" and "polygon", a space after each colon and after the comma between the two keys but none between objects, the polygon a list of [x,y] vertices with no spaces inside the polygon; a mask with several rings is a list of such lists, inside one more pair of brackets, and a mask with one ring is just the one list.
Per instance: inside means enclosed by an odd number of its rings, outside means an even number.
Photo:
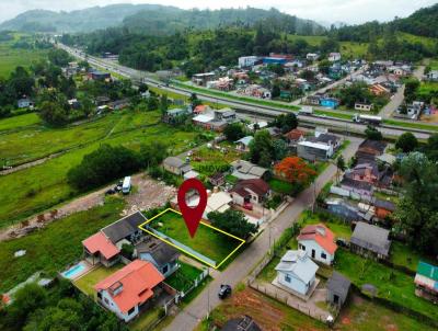
[{"label": "grassy lot behind the pool house, below the dirt track at left edge", "polygon": [[[0,242],[0,293],[27,279],[37,271],[51,275],[82,255],[82,240],[117,220],[124,203],[108,198],[105,205],[49,224],[26,237]],[[26,250],[14,258],[18,250]]]}]

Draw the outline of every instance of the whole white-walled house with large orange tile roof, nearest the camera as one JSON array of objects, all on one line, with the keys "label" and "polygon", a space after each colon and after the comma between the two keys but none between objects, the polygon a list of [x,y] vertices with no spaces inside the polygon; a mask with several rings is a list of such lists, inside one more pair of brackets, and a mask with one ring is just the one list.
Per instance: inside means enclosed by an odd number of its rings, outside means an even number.
[{"label": "whole white-walled house with large orange tile roof, nearest the camera", "polygon": [[151,262],[135,260],[99,282],[94,289],[100,304],[129,322],[161,290],[159,285],[163,281],[164,276]]}]

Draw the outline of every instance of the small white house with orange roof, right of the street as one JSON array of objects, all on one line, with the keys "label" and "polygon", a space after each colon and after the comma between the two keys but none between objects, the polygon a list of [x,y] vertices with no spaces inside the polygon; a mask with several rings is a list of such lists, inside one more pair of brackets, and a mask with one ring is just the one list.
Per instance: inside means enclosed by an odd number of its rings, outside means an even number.
[{"label": "small white house with orange roof, right of the street", "polygon": [[297,237],[298,249],[308,253],[314,261],[332,264],[337,246],[335,235],[323,224],[309,225]]}]

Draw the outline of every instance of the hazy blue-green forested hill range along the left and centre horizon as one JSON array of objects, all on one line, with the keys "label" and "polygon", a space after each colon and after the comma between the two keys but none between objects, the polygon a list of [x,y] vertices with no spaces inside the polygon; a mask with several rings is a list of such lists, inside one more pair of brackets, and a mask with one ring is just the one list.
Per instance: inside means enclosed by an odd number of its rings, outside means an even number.
[{"label": "hazy blue-green forested hill range along the left and centre horizon", "polygon": [[324,27],[313,21],[298,19],[278,10],[222,9],[183,10],[160,4],[113,4],[71,12],[32,10],[0,24],[0,30],[25,32],[91,32],[124,26],[131,32],[149,35],[169,35],[185,30],[216,28],[224,25],[254,25],[266,21],[288,33],[321,34]]}]

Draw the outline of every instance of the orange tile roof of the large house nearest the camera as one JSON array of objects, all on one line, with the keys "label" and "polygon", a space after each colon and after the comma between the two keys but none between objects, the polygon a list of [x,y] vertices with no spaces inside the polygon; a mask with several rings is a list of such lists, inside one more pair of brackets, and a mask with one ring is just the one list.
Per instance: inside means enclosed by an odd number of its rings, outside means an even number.
[{"label": "orange tile roof of the large house nearest the camera", "polygon": [[122,312],[146,303],[153,288],[164,281],[157,267],[147,261],[136,260],[94,286],[107,290]]}]

